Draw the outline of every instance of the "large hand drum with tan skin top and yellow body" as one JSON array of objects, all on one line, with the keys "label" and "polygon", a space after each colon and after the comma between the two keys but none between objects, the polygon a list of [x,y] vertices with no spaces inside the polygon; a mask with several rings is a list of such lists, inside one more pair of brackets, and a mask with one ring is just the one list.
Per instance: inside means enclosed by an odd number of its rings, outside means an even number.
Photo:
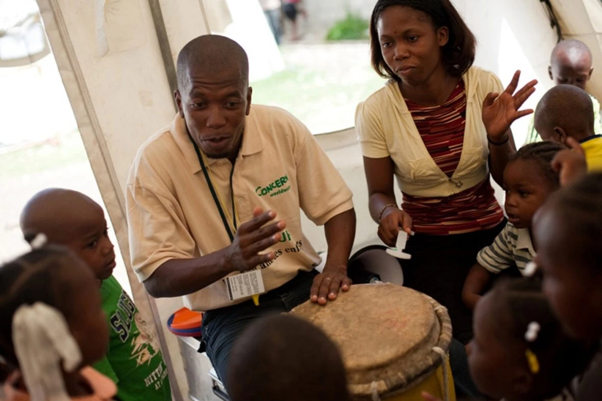
[{"label": "large hand drum with tan skin top and yellow body", "polygon": [[352,285],[337,300],[291,313],[338,344],[356,400],[455,401],[448,348],[452,323],[434,299],[394,284]]}]

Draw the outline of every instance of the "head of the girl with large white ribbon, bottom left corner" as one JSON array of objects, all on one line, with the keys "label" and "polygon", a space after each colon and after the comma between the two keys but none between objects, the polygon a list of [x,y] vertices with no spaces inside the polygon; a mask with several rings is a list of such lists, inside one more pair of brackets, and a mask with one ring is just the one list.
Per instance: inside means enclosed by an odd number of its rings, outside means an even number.
[{"label": "head of the girl with large white ribbon, bottom left corner", "polygon": [[[46,338],[46,334],[51,337],[52,332],[60,328],[60,322],[49,322],[47,314],[36,316],[34,313],[36,317],[25,322],[28,329],[16,330],[19,326],[14,320],[17,311],[22,310],[23,305],[39,303],[50,306],[64,317],[81,352],[81,365],[101,359],[108,345],[108,328],[96,283],[92,271],[64,247],[35,249],[0,266],[0,355],[7,364],[19,368],[20,364],[31,363],[24,360],[27,358],[23,355],[17,355],[17,341],[26,341],[26,346],[32,350],[39,349],[34,346],[39,341],[38,347],[42,346],[45,352],[54,351],[48,346],[53,341]],[[58,365],[60,358],[55,362]]]}]

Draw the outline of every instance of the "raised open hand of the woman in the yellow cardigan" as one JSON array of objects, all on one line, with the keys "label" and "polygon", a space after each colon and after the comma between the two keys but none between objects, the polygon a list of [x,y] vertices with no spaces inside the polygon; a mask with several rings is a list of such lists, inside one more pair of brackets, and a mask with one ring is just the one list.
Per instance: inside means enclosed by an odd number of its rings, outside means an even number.
[{"label": "raised open hand of the woman in the yellow cardigan", "polygon": [[501,94],[489,93],[483,101],[483,124],[485,124],[487,136],[492,142],[504,141],[503,137],[510,129],[510,124],[533,113],[532,109],[521,111],[518,109],[535,92],[537,81],[533,79],[517,93],[514,93],[517,90],[520,76],[520,71],[515,72],[512,81],[504,92]]}]

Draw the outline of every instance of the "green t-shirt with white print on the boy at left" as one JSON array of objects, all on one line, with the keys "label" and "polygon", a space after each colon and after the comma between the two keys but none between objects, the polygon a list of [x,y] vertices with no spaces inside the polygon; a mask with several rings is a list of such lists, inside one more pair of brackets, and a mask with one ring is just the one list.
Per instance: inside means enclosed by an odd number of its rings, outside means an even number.
[{"label": "green t-shirt with white print on the boy at left", "polygon": [[113,276],[101,285],[102,309],[109,322],[105,358],[94,368],[117,385],[123,401],[170,401],[167,367],[159,344],[140,312]]}]

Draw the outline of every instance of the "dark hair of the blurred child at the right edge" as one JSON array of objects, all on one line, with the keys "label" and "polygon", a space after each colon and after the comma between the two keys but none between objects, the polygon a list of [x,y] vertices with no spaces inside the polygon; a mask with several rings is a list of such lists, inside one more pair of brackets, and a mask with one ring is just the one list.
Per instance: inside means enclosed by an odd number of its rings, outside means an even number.
[{"label": "dark hair of the blurred child at the right edge", "polygon": [[562,221],[574,267],[602,273],[602,173],[591,173],[552,194],[547,210]]}]

